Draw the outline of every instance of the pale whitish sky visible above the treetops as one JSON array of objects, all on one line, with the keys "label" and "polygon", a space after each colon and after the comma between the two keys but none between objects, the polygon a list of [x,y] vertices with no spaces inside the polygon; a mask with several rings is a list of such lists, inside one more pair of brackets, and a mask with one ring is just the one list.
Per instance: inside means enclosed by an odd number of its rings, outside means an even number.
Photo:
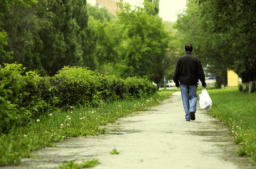
[{"label": "pale whitish sky visible above the treetops", "polygon": [[[96,0],[87,0],[88,3],[95,5]],[[140,6],[143,0],[123,0],[130,5]],[[176,21],[177,14],[180,14],[186,8],[186,0],[160,0],[159,16],[165,21]]]}]

